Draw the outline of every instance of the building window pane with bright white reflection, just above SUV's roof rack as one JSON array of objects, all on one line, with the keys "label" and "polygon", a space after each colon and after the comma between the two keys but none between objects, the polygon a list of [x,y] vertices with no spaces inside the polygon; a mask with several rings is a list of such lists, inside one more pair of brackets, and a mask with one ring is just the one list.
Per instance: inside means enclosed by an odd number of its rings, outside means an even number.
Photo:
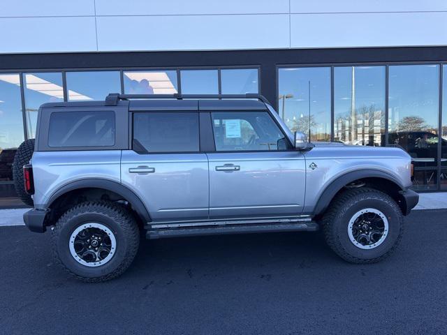
[{"label": "building window pane with bright white reflection, just above SUV's roof rack", "polygon": [[177,71],[126,71],[124,72],[125,94],[175,94]]}]

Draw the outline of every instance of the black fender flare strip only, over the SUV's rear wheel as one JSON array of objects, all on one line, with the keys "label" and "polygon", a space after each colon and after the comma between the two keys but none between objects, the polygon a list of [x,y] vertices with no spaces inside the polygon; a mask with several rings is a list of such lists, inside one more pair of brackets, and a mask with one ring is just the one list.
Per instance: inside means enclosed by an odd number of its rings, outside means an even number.
[{"label": "black fender flare strip only, over the SUV's rear wheel", "polygon": [[149,211],[145,207],[145,204],[141,201],[141,199],[136,195],[131,189],[127,188],[123,184],[119,184],[117,181],[112,181],[109,179],[82,179],[78,181],[72,181],[55,191],[50,199],[45,204],[45,208],[50,208],[51,204],[57,200],[61,195],[68,193],[70,191],[75,191],[80,188],[103,188],[104,190],[111,191],[121,195],[123,199],[128,201],[132,208],[137,212],[138,216],[142,218],[142,220],[146,222],[151,221],[149,216]]}]

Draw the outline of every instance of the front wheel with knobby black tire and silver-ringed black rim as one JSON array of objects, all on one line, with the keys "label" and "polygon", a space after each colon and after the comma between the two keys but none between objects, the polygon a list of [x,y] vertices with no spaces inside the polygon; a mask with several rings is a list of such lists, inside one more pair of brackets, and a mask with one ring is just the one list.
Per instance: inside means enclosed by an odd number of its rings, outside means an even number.
[{"label": "front wheel with knobby black tire and silver-ringed black rim", "polygon": [[372,188],[344,191],[323,216],[330,248],[352,263],[373,263],[388,257],[402,238],[403,216],[396,202]]}]

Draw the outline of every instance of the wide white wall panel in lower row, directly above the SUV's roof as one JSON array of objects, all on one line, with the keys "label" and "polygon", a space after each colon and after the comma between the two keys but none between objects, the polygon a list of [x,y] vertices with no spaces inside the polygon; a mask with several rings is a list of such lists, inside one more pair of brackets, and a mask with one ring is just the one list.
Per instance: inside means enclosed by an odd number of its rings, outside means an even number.
[{"label": "wide white wall panel in lower row, directly above the SUV's roof", "polygon": [[289,46],[288,14],[98,17],[98,50],[205,50]]}]

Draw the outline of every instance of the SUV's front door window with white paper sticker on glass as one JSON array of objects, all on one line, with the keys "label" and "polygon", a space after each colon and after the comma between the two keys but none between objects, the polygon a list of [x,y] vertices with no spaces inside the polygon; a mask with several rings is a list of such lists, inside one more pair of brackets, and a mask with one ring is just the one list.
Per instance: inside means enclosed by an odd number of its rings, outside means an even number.
[{"label": "SUV's front door window with white paper sticker on glass", "polygon": [[213,112],[212,125],[217,151],[290,149],[268,112]]}]

